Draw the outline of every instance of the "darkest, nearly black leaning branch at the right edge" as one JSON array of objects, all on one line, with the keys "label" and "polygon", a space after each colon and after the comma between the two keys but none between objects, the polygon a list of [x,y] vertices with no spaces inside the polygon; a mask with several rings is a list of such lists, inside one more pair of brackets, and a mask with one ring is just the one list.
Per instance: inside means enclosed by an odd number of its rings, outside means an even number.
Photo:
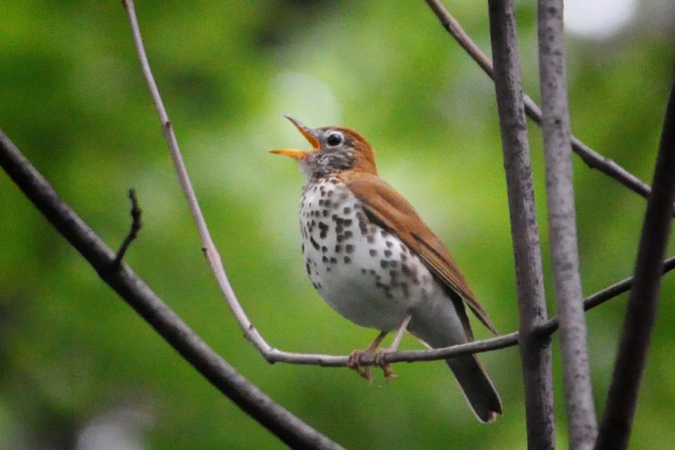
[{"label": "darkest, nearly black leaning branch at the right edge", "polygon": [[652,188],[636,259],[635,282],[628,299],[610,393],[600,423],[598,450],[622,450],[628,446],[656,319],[662,259],[675,209],[675,82],[668,98]]}]

